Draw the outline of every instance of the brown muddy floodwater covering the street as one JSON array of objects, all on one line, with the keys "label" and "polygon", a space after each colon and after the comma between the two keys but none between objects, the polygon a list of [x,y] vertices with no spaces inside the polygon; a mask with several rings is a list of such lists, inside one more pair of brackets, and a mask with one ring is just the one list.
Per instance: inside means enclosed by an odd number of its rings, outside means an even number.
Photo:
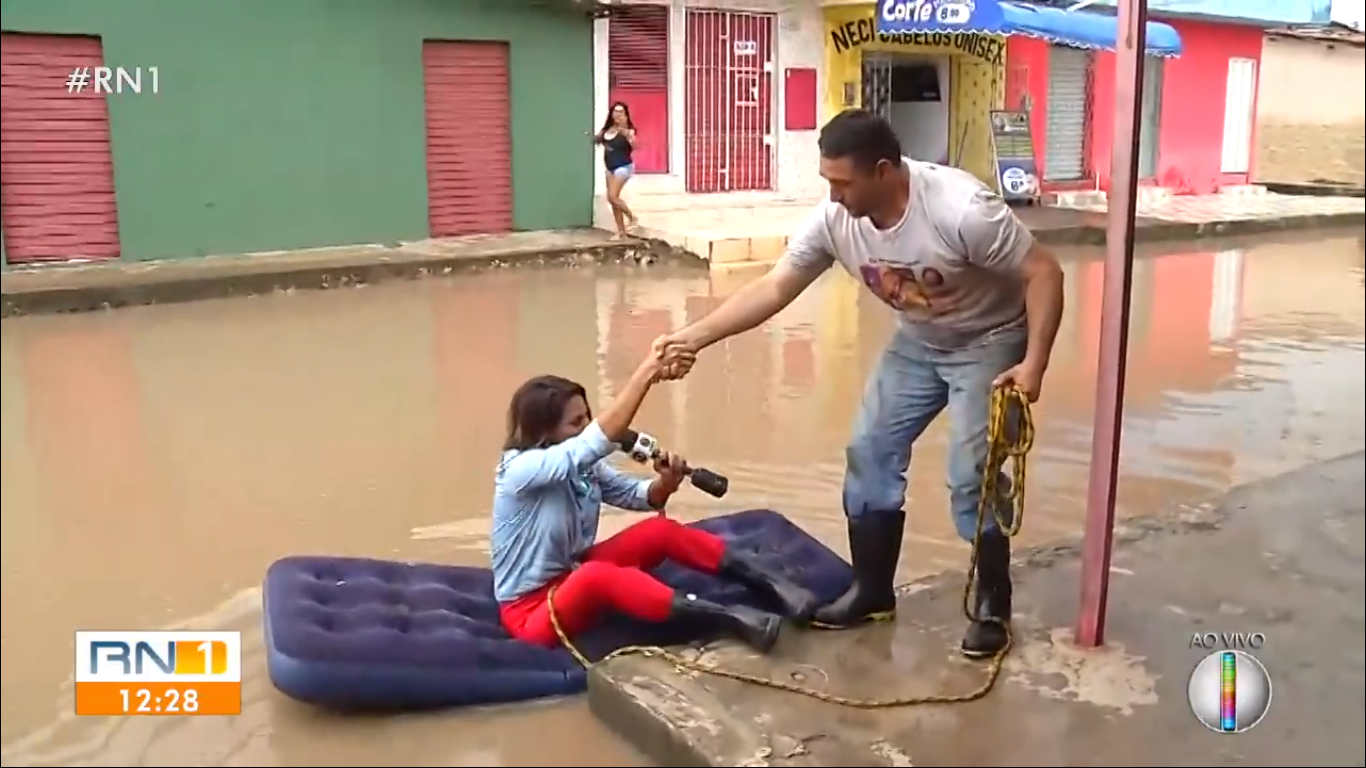
[{"label": "brown muddy floodwater covering the street", "polygon": [[[1024,538],[1083,510],[1101,266],[1067,262]],[[1160,512],[1366,444],[1355,238],[1139,262],[1123,514]],[[5,320],[3,764],[641,765],[582,701],[331,717],[276,694],[260,581],[291,553],[482,564],[503,409],[555,372],[600,398],[649,342],[753,273],[529,271]],[[841,447],[889,313],[829,275],[706,353],[638,424],[731,476],[695,519],[777,508],[844,552]],[[903,575],[962,568],[944,425],[917,445]],[[1287,514],[1292,514],[1287,510]],[[607,533],[627,517],[608,515]],[[76,719],[76,629],[228,629],[240,717]]]}]

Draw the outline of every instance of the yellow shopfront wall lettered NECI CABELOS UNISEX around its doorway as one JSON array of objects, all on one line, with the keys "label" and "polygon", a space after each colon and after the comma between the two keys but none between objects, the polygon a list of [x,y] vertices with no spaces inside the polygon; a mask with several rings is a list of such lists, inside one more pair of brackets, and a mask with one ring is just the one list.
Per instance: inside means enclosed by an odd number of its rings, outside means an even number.
[{"label": "yellow shopfront wall lettered NECI CABELOS UNISEX around its doorway", "polygon": [[1005,37],[878,33],[876,5],[825,8],[826,113],[863,107],[863,56],[943,56],[948,61],[948,160],[996,186],[990,112],[1005,104]]}]

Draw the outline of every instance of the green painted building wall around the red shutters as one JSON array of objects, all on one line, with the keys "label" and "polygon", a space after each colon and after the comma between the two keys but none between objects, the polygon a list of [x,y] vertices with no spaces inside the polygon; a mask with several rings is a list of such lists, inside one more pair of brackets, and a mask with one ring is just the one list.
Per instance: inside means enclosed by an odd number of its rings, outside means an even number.
[{"label": "green painted building wall around the red shutters", "polygon": [[160,94],[145,78],[142,94],[107,97],[126,261],[428,236],[423,40],[510,44],[514,227],[591,224],[582,12],[527,0],[0,0],[0,25],[100,36],[107,66],[158,67]]}]

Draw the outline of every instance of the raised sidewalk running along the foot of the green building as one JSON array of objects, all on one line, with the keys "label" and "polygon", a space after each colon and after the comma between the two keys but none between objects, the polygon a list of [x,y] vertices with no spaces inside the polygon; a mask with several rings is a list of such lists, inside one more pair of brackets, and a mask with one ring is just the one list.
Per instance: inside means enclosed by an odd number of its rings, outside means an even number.
[{"label": "raised sidewalk running along the foot of the green building", "polygon": [[612,242],[608,238],[609,234],[600,230],[567,230],[447,238],[395,246],[342,246],[167,261],[14,268],[0,275],[0,294],[4,297],[3,316],[11,317],[292,288],[337,288],[510,265],[638,262],[665,253],[643,241]]}]

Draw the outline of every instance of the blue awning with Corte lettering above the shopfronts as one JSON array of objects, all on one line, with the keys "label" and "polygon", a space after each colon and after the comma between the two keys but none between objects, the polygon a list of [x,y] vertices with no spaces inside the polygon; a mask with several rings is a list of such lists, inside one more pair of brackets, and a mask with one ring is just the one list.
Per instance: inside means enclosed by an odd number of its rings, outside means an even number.
[{"label": "blue awning with Corte lettering above the shopfronts", "polygon": [[[1001,0],[878,0],[877,31],[1020,34],[1075,48],[1113,51],[1119,19]],[[1180,56],[1182,36],[1169,25],[1147,22],[1147,53]]]}]

